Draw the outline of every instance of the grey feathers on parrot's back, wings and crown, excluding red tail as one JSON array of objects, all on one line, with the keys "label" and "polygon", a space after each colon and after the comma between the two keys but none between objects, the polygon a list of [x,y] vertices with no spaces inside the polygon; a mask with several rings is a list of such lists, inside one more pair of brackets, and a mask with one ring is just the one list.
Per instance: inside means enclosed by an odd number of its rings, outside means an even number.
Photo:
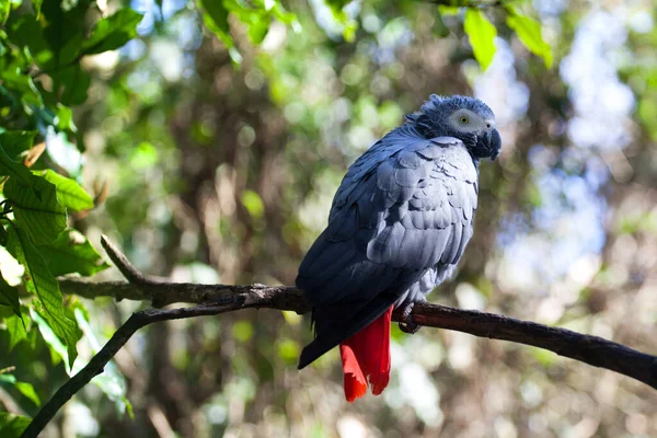
[{"label": "grey feathers on parrot's back, wings and crown, excluding red tail", "polygon": [[479,101],[459,99],[433,96],[349,168],[326,230],[299,267],[316,334],[300,367],[393,303],[423,300],[453,272],[472,237],[479,159],[462,140],[426,129],[457,104],[487,116]]}]

